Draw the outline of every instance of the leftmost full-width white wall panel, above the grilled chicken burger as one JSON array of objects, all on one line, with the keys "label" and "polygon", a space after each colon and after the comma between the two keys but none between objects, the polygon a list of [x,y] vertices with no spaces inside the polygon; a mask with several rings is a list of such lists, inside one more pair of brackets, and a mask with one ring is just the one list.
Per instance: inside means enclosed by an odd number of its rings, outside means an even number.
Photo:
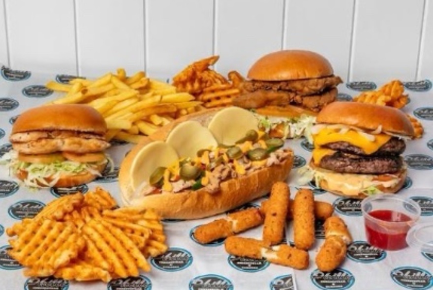
[{"label": "leftmost full-width white wall panel, above the grilled chicken burger", "polygon": [[10,66],[75,73],[73,0],[4,1]]}]

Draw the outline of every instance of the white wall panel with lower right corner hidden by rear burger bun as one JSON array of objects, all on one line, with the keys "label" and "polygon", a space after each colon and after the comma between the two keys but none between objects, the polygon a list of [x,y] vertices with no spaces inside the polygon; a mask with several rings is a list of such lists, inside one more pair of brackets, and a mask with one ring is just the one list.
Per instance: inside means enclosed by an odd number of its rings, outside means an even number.
[{"label": "white wall panel with lower right corner hidden by rear burger bun", "polygon": [[235,69],[246,75],[259,57],[280,50],[283,7],[283,0],[216,1],[218,71]]}]

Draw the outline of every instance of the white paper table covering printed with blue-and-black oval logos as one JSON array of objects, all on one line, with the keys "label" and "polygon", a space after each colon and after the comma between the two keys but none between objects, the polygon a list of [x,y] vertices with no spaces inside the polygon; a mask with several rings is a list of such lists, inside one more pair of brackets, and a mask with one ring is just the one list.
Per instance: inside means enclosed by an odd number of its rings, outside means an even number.
[{"label": "white paper table covering printed with blue-and-black oval logos", "polygon": [[[49,80],[67,82],[71,76],[42,75],[29,71],[15,71],[1,67],[0,77],[0,156],[11,145],[8,136],[16,117],[23,111],[46,103],[59,96],[44,87]],[[339,99],[350,101],[361,90],[369,90],[381,84],[353,82],[339,86]],[[403,156],[408,166],[408,176],[398,193],[410,198],[422,208],[421,222],[433,222],[433,92],[432,82],[404,82],[410,102],[403,111],[415,116],[425,128],[422,139],[409,141]],[[286,145],[295,152],[295,164],[288,183],[292,196],[296,192],[297,169],[310,158],[311,146],[306,140],[289,140]],[[64,194],[83,193],[101,186],[108,190],[121,204],[117,174],[123,156],[131,144],[113,142],[108,153],[115,167],[110,173],[93,182],[62,189],[31,191],[17,179],[9,176],[0,166],[0,289],[38,290],[310,290],[310,289],[433,289],[433,255],[417,249],[383,251],[366,242],[361,201],[337,197],[320,189],[313,183],[315,199],[332,203],[335,214],[341,216],[352,233],[354,242],[348,247],[347,257],[338,269],[323,273],[317,269],[314,258],[324,240],[323,223],[316,222],[316,243],[309,251],[310,265],[306,270],[270,264],[267,261],[243,259],[228,255],[223,240],[201,245],[191,235],[195,227],[216,217],[195,221],[164,221],[169,250],[151,259],[152,270],[140,277],[117,279],[108,285],[102,282],[68,282],[62,279],[28,278],[22,266],[7,255],[8,236],[4,230],[24,217],[32,217],[53,199]],[[259,206],[261,200],[245,207]],[[262,228],[242,233],[242,236],[260,238]],[[286,228],[286,242],[291,243],[291,224]],[[432,237],[433,240],[433,237]]]}]

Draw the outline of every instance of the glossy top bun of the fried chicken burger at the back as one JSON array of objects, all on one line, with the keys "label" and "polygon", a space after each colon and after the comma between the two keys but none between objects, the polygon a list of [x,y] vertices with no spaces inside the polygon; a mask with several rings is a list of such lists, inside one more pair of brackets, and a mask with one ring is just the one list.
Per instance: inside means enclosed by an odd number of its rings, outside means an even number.
[{"label": "glossy top bun of the fried chicken burger at the back", "polygon": [[288,81],[327,77],[334,74],[331,63],[307,50],[281,50],[259,58],[247,77],[257,81]]}]

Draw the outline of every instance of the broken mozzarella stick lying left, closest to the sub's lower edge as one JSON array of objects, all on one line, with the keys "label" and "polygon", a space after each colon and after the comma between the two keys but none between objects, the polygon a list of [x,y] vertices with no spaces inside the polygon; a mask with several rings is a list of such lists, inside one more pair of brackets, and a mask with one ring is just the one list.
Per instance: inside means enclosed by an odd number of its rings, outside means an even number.
[{"label": "broken mozzarella stick lying left, closest to the sub's lower edge", "polygon": [[258,208],[248,208],[230,213],[225,218],[197,227],[194,231],[194,237],[199,243],[207,244],[219,238],[244,232],[262,223],[263,217],[260,210]]}]

